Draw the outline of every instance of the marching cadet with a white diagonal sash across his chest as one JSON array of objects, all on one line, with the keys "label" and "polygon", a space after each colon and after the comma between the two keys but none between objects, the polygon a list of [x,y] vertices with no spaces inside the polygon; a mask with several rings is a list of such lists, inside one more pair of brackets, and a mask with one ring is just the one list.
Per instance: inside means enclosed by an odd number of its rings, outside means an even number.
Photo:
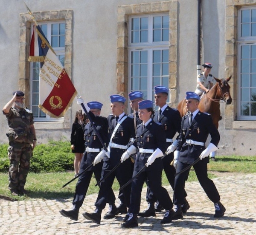
[{"label": "marching cadet with a white diagonal sash across his chest", "polygon": [[[119,163],[122,154],[128,148],[127,145],[130,142],[130,138],[135,138],[133,120],[124,113],[126,99],[119,95],[112,95],[110,98],[111,111],[113,115],[109,115],[107,118],[109,130],[108,152],[102,150],[102,152],[100,152],[94,159],[94,165],[103,160],[102,178],[105,177],[105,175],[108,174],[108,172]],[[98,116],[95,117],[95,120],[97,123],[101,122],[101,118]],[[83,216],[85,218],[100,224],[101,213],[106,206],[109,194],[112,192],[111,187],[114,178],[116,177],[120,187],[122,187],[122,185],[131,179],[131,167],[131,160],[125,161],[124,163],[120,164],[113,174],[106,178],[105,181],[102,181],[98,198],[95,203],[96,210],[94,213],[84,212]],[[128,207],[130,204],[130,194],[131,186],[125,187],[123,190],[123,195],[126,207]],[[118,211],[116,213],[118,213]]]}]

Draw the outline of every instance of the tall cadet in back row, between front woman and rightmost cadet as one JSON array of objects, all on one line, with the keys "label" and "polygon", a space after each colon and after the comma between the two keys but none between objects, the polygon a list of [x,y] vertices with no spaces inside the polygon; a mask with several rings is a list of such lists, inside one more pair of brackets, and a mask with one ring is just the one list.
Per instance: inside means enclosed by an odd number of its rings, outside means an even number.
[{"label": "tall cadet in back row, between front woman and rightmost cadet", "polygon": [[[171,165],[171,162],[174,158],[173,151],[176,148],[177,140],[174,140],[174,136],[176,133],[180,133],[180,112],[177,109],[170,108],[167,104],[167,98],[169,94],[169,89],[164,86],[155,86],[155,104],[159,107],[158,111],[154,113],[153,120],[154,122],[160,122],[166,133],[166,142],[165,147],[167,148],[166,156],[162,159],[163,161],[163,170],[166,173],[166,177],[172,187],[174,189],[174,179],[175,179],[175,167]],[[186,192],[184,192],[186,197]],[[155,216],[155,211],[160,212],[163,210],[161,204],[157,198],[153,195],[150,187],[147,189],[146,199],[148,202],[148,207],[143,212],[140,212],[138,216],[141,217],[149,217]],[[154,205],[154,203],[156,204]],[[182,205],[183,213],[189,209],[189,203],[184,199],[184,205]],[[175,218],[177,219],[177,218]]]}]

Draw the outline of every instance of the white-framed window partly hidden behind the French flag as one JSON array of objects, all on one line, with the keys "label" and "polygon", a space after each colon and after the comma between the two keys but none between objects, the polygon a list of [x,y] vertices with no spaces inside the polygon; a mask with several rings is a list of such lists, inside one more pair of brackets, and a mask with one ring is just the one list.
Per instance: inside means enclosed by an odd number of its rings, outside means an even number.
[{"label": "white-framed window partly hidden behind the French flag", "polygon": [[[40,27],[47,37],[50,45],[58,56],[61,64],[64,66],[64,57],[65,57],[65,22],[47,22],[41,23]],[[31,27],[33,28],[33,27]],[[32,33],[31,33],[32,34]],[[40,64],[39,62],[31,63],[31,83],[30,83],[30,93],[31,100],[30,104],[33,112],[35,121],[60,121],[63,118],[55,119],[50,118],[42,110],[38,108],[39,104],[39,72]]]}]

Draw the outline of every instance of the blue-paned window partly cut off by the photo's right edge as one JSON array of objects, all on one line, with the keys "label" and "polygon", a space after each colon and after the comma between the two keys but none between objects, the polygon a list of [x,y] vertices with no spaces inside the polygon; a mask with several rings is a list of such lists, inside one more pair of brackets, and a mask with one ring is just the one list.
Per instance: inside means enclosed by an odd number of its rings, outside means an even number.
[{"label": "blue-paned window partly cut off by the photo's right edge", "polygon": [[256,7],[241,8],[238,31],[238,119],[256,119]]}]

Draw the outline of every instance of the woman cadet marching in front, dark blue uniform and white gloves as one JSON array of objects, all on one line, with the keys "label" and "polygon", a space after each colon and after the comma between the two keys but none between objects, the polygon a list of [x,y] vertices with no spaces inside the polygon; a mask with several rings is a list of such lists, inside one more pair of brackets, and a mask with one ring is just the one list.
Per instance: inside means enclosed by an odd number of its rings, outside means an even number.
[{"label": "woman cadet marching in front, dark blue uniform and white gloves", "polygon": [[143,100],[138,104],[139,117],[143,123],[137,126],[135,142],[122,155],[121,161],[123,162],[128,159],[138,148],[139,151],[136,156],[133,176],[135,176],[145,164],[147,168],[132,182],[131,202],[128,209],[129,218],[121,225],[121,227],[124,228],[138,226],[137,214],[140,210],[141,191],[145,181],[147,181],[148,186],[166,210],[161,224],[170,223],[175,214],[172,210],[172,200],[167,190],[162,187],[163,162],[161,157],[166,151],[166,135],[164,128],[151,119],[151,115],[154,113],[152,101]]}]

